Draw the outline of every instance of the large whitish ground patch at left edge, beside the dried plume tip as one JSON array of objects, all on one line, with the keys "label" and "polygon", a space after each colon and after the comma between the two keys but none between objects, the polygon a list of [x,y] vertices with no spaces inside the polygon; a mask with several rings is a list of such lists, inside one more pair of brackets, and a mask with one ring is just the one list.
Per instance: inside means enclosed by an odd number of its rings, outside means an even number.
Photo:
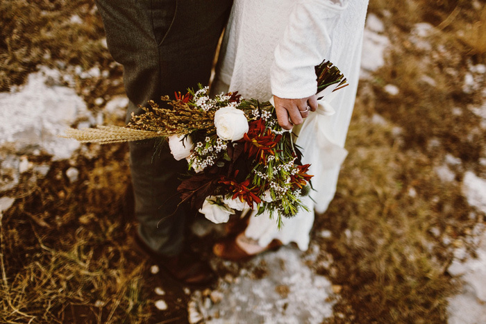
[{"label": "large whitish ground patch at left edge, beside the dried plume tip", "polygon": [[0,146],[11,143],[18,151],[37,148],[53,160],[71,157],[80,144],[58,137],[78,118],[92,118],[74,89],[56,85],[57,70],[42,67],[26,85],[0,93]]}]

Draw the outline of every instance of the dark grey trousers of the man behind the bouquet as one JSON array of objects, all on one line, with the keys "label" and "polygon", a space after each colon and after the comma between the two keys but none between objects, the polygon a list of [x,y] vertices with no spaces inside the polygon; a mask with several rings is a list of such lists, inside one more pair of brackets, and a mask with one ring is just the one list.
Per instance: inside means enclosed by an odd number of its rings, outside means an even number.
[{"label": "dark grey trousers of the man behind the bouquet", "polygon": [[[162,95],[183,94],[207,85],[221,31],[232,0],[97,0],[108,50],[124,67],[132,112]],[[153,140],[130,144],[130,168],[139,235],[161,255],[183,248],[185,214],[177,194],[180,173],[167,145],[156,152]]]}]

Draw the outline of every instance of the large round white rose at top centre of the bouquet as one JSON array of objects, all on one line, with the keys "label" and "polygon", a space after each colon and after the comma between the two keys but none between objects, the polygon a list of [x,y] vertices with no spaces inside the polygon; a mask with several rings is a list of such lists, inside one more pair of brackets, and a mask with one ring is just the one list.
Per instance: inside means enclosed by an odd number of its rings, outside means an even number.
[{"label": "large round white rose at top centre of the bouquet", "polygon": [[219,138],[237,141],[248,132],[248,121],[243,110],[234,107],[219,108],[215,113],[215,127]]}]

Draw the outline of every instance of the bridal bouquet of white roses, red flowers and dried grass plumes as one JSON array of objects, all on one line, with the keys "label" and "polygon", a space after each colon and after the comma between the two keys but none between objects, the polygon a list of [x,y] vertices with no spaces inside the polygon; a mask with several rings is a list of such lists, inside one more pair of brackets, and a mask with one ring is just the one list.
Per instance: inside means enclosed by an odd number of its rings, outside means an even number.
[{"label": "bridal bouquet of white roses, red flowers and dried grass plumes", "polygon": [[[318,92],[347,85],[330,62],[316,67],[316,74]],[[70,129],[67,137],[102,144],[166,138],[174,158],[188,163],[189,173],[178,186],[182,200],[215,223],[250,208],[276,215],[280,228],[283,216],[308,210],[301,196],[310,190],[310,164],[301,163],[292,133],[280,128],[269,101],[242,99],[237,92],[210,98],[201,85],[162,101],[163,108],[149,101],[150,108],[132,115],[125,127]]]}]

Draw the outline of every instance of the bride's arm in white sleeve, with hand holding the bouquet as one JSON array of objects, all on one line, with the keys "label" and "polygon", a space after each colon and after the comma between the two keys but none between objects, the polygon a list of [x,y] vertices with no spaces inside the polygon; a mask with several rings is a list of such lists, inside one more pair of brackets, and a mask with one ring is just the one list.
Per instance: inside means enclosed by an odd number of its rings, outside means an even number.
[{"label": "bride's arm in white sleeve, with hand holding the bouquet", "polygon": [[312,111],[317,108],[315,66],[328,55],[330,31],[348,3],[349,0],[300,0],[294,6],[276,46],[271,71],[271,91],[283,128],[302,123],[308,116],[308,112],[303,112],[307,106]]}]

